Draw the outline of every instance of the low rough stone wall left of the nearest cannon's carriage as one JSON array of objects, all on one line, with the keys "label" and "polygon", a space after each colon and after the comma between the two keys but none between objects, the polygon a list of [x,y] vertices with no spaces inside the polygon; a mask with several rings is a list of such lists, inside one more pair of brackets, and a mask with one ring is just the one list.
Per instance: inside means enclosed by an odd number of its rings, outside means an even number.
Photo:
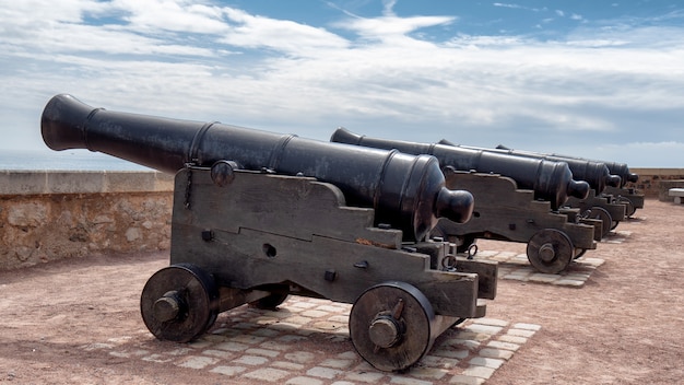
[{"label": "low rough stone wall left of the nearest cannon's carriage", "polygon": [[156,172],[2,172],[0,269],[168,249],[172,206]]}]

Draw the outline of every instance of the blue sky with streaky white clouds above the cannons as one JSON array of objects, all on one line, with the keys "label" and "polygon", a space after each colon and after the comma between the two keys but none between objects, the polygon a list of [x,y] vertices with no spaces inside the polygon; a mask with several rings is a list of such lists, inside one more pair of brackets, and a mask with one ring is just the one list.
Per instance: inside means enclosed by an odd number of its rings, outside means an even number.
[{"label": "blue sky with streaky white clouds above the cannons", "polygon": [[328,140],[684,167],[679,1],[0,0],[0,150],[55,94]]}]

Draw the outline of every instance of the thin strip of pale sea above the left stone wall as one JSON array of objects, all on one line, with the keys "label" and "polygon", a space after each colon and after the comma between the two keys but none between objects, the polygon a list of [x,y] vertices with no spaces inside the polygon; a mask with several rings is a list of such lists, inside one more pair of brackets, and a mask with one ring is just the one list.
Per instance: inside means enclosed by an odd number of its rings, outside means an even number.
[{"label": "thin strip of pale sea above the left stone wall", "polygon": [[87,150],[3,150],[0,170],[5,171],[151,171],[139,164]]}]

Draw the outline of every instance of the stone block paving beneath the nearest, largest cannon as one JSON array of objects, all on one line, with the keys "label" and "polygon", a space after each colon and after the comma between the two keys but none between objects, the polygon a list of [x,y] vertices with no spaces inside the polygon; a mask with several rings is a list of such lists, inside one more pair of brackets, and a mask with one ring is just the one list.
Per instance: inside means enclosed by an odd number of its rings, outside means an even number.
[{"label": "stone block paving beneath the nearest, largest cannon", "polygon": [[291,295],[276,311],[240,306],[219,315],[190,343],[156,340],[148,330],[81,347],[141,365],[174,364],[226,381],[288,385],[483,384],[540,330],[539,325],[469,319],[439,336],[405,373],[366,363],[349,337],[351,305]]}]

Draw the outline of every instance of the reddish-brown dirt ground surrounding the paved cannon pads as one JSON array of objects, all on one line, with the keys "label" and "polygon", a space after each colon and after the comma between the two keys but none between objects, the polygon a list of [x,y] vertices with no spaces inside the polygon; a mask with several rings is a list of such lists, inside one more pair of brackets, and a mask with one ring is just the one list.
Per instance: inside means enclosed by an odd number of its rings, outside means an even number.
[{"label": "reddish-brown dirt ground surrounding the paved cannon pads", "polygon": [[[486,384],[677,384],[684,378],[684,206],[647,200],[582,288],[499,280],[487,317],[541,325]],[[480,242],[524,253],[524,244]],[[231,383],[82,347],[144,329],[139,299],[166,253],[0,272],[0,383]],[[162,343],[162,342],[160,342]],[[246,384],[239,380],[240,384]]]}]

